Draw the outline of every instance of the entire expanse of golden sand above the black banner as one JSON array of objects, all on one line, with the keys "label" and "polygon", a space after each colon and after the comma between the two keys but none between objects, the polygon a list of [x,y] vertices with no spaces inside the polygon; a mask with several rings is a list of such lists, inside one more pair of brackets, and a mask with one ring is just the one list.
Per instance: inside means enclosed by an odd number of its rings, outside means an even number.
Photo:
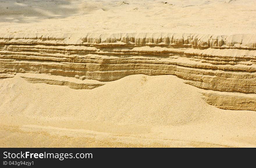
[{"label": "entire expanse of golden sand above the black banner", "polygon": [[0,147],[256,147],[255,1],[0,3]]}]

